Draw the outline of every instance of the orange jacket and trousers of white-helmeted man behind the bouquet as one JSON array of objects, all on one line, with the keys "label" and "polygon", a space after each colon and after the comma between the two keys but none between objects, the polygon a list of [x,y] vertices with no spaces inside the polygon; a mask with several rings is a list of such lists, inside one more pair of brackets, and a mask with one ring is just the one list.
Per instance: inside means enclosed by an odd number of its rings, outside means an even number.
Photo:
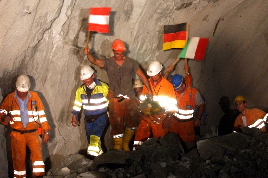
[{"label": "orange jacket and trousers of white-helmeted man behind the bouquet", "polygon": [[[162,77],[161,81],[157,83],[156,86],[153,86],[154,85],[153,81],[149,79],[149,85],[152,90],[154,100],[155,100],[155,97],[166,96],[167,98],[169,98],[169,101],[170,101],[169,104],[173,104],[176,107],[177,106],[176,95],[175,95],[173,85],[168,80],[166,80],[163,76],[161,77]],[[141,95],[147,95],[147,94],[149,94],[149,92],[147,88],[143,86]],[[161,105],[161,101],[159,101],[159,104]],[[174,110],[172,112],[174,112]],[[162,120],[160,124],[158,122],[149,121],[145,116],[141,115],[141,121],[135,133],[134,144],[135,142],[145,141],[145,139],[149,138],[151,130],[152,130],[153,137],[156,137],[156,138],[167,134],[168,129],[167,128],[163,129],[163,126],[162,126],[163,120],[166,117],[166,115],[163,115],[163,113],[160,113],[159,115],[155,114],[154,119],[158,120],[157,119],[158,117],[161,118]]]}]

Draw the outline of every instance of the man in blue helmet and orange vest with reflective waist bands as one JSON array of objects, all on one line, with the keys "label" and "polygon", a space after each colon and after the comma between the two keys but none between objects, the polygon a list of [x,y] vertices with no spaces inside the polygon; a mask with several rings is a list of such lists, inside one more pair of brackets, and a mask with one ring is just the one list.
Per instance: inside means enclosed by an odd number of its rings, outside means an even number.
[{"label": "man in blue helmet and orange vest with reflective waist bands", "polygon": [[[194,127],[200,126],[201,116],[205,109],[205,102],[196,88],[186,84],[181,75],[175,74],[171,80],[176,97],[178,110],[171,120],[169,132],[174,132],[183,141],[194,141]],[[194,108],[199,105],[197,119],[194,121]]]}]

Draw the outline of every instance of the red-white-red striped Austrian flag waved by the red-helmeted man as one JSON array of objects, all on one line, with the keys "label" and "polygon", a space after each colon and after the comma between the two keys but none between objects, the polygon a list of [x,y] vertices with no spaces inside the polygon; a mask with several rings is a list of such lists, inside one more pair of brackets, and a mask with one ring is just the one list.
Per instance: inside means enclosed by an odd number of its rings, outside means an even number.
[{"label": "red-white-red striped Austrian flag waved by the red-helmeted man", "polygon": [[88,31],[109,33],[111,7],[91,7],[88,17]]}]

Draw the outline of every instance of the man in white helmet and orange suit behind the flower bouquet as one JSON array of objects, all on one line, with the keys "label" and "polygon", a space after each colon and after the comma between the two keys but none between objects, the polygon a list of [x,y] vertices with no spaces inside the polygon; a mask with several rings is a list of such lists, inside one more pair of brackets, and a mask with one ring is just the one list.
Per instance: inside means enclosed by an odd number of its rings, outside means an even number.
[{"label": "man in white helmet and orange suit behind the flower bouquet", "polygon": [[[147,70],[147,75],[151,78],[148,80],[150,88],[153,92],[153,101],[156,101],[160,106],[167,111],[155,114],[154,116],[141,115],[141,121],[135,134],[134,147],[141,145],[145,140],[152,136],[158,138],[168,133],[170,119],[177,108],[176,95],[172,84],[162,76],[163,66],[158,61],[153,61]],[[141,92],[141,102],[146,99],[149,91],[143,87]]]}]

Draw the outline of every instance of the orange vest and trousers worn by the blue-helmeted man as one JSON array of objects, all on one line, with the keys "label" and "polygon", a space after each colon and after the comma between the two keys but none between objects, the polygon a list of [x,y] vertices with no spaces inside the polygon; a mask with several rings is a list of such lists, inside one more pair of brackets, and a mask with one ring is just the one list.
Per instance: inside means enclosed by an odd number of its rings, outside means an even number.
[{"label": "orange vest and trousers worn by the blue-helmeted man", "polygon": [[[194,119],[189,114],[188,118],[183,118],[183,114],[180,118],[176,116],[179,115],[180,110],[192,110],[194,111],[195,103],[195,94],[197,92],[196,88],[191,88],[190,86],[186,85],[186,91],[181,97],[180,93],[176,92],[177,96],[177,103],[179,111],[174,113],[171,122],[169,124],[169,132],[174,132],[180,136],[183,141],[194,141]],[[190,93],[192,92],[192,99],[190,97]],[[187,112],[187,111],[186,111]],[[186,114],[184,114],[186,115]]]}]

